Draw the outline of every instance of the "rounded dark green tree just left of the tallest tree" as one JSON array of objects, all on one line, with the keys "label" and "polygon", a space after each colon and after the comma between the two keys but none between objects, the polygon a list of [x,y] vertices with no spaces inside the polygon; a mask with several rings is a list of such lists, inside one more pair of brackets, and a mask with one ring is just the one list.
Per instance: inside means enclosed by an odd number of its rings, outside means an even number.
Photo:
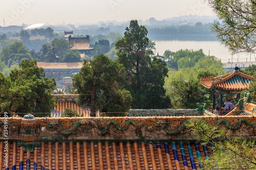
[{"label": "rounded dark green tree just left of the tallest tree", "polygon": [[[90,104],[91,112],[125,112],[131,106],[131,94],[122,88],[124,68],[104,55],[84,60],[80,72],[73,78],[79,93],[78,104]],[[95,114],[93,115],[95,116]]]}]

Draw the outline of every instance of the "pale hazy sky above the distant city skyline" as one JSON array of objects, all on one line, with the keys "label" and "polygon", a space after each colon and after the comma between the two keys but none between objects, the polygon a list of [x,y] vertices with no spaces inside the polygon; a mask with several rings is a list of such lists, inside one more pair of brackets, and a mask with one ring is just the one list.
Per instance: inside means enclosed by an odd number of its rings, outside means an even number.
[{"label": "pale hazy sky above the distant city skyline", "polygon": [[0,0],[0,26],[40,22],[162,20],[180,15],[214,15],[201,0]]}]

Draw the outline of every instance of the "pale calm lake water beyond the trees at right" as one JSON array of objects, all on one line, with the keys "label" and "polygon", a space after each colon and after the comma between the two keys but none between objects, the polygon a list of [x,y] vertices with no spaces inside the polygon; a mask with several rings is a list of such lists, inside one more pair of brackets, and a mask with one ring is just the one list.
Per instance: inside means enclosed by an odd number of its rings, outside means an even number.
[{"label": "pale calm lake water beyond the trees at right", "polygon": [[[202,49],[206,55],[215,56],[221,59],[223,63],[231,62],[232,60],[228,49],[214,35],[148,35],[148,38],[156,43],[155,53],[159,53],[160,56],[163,55],[165,50],[176,52],[181,49],[191,49],[194,51]],[[256,55],[251,54],[252,62],[256,61],[255,57]],[[233,55],[233,62],[245,62],[246,58],[249,62],[250,54]]]}]

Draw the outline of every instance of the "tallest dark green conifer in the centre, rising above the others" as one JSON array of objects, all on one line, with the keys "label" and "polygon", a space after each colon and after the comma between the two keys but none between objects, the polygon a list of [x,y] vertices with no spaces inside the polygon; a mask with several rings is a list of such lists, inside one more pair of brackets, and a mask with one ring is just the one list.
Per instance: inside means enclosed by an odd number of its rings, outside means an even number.
[{"label": "tallest dark green conifer in the centre, rising above the others", "polygon": [[147,29],[137,20],[126,27],[124,37],[116,42],[117,61],[126,70],[125,89],[133,96],[134,109],[163,109],[169,107],[169,99],[163,88],[167,76],[166,63],[154,58],[151,61],[154,43],[147,38]]}]

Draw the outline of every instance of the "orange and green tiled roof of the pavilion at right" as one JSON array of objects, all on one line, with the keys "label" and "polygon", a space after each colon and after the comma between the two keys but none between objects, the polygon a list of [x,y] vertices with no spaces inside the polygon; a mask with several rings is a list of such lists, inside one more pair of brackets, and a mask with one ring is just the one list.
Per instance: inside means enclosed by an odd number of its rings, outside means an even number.
[{"label": "orange and green tiled roof of the pavilion at right", "polygon": [[201,78],[201,84],[206,88],[215,87],[226,91],[242,91],[249,88],[251,81],[255,78],[240,72],[239,70],[230,72],[229,74],[219,77]]}]

